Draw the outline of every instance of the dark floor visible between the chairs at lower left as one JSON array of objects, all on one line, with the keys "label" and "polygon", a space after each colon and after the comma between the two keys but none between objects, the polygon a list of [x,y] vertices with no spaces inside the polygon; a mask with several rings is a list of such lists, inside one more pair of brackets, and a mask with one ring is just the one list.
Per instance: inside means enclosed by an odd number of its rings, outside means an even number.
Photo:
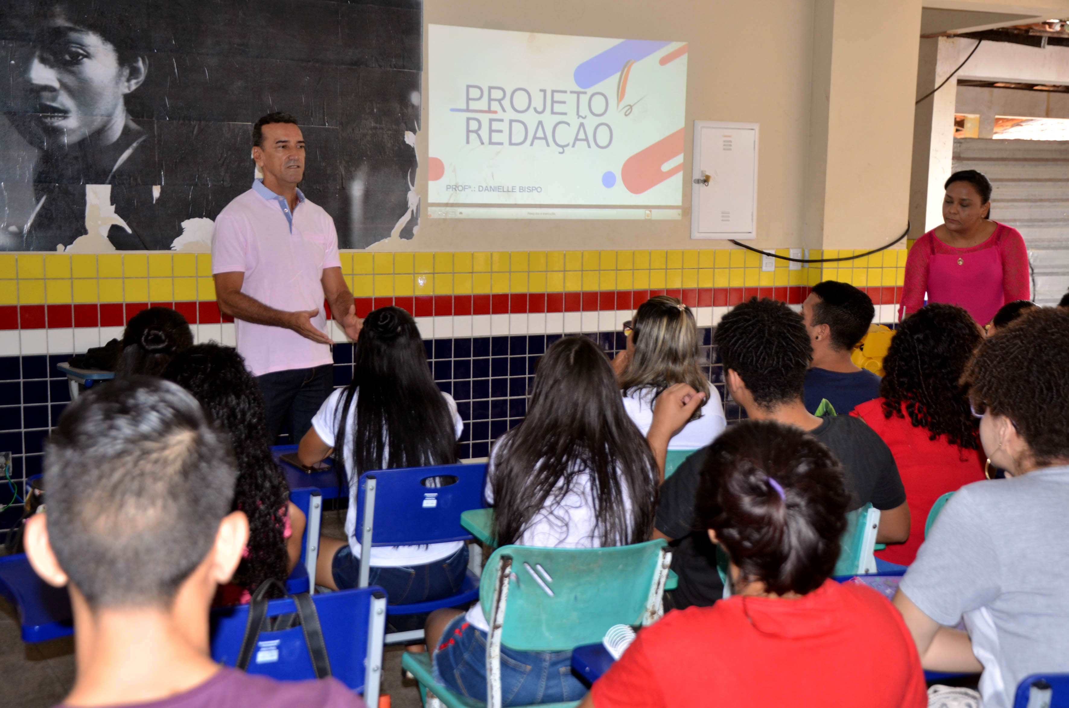
[{"label": "dark floor visible between the chairs at lower left", "polygon": [[[344,538],[343,523],[341,515],[328,511],[323,517],[323,533]],[[386,648],[382,693],[389,694],[390,708],[420,708],[415,681],[402,677],[403,651],[403,647]],[[73,637],[25,644],[15,609],[0,599],[0,708],[51,708],[71,690],[74,671]]]}]

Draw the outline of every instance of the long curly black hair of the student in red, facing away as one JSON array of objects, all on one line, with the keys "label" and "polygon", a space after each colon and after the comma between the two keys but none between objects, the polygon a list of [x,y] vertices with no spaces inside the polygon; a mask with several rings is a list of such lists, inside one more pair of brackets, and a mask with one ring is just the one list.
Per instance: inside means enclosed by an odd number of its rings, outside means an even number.
[{"label": "long curly black hair of the student in red, facing away", "polygon": [[905,318],[883,359],[883,416],[908,414],[929,440],[946,435],[951,445],[979,449],[979,425],[959,380],[982,339],[972,315],[957,305],[932,303]]}]

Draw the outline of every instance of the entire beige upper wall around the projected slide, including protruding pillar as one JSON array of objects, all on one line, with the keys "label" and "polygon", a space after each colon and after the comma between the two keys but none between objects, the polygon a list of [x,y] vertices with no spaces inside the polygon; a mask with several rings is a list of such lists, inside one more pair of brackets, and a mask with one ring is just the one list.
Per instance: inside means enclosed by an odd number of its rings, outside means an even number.
[{"label": "entire beige upper wall around the projected slide, including protruding pillar", "polygon": [[876,247],[905,226],[920,0],[425,0],[424,21],[688,42],[683,218],[432,219],[424,199],[416,237],[375,250],[724,247],[690,237],[694,120],[761,125],[755,246]]}]

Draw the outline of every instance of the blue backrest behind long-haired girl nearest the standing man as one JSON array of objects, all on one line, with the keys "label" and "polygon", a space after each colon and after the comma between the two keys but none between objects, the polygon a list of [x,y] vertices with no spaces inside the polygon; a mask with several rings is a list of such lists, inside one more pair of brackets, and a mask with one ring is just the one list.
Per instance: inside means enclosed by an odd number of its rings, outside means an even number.
[{"label": "blue backrest behind long-haired girl nearest the standing man", "polygon": [[[445,477],[444,486],[425,486],[434,477]],[[357,490],[356,527],[373,527],[372,545],[466,541],[471,534],[461,526],[461,512],[485,506],[485,462],[366,472]]]}]

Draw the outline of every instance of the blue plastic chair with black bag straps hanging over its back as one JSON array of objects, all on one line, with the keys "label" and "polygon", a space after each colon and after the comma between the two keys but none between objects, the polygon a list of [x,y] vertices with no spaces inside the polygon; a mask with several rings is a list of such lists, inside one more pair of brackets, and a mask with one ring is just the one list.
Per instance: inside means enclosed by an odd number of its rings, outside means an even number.
[{"label": "blue plastic chair with black bag straps hanging over its back", "polygon": [[[330,660],[330,674],[357,693],[369,706],[378,705],[383,675],[383,635],[386,631],[386,594],[381,587],[339,590],[313,596]],[[267,617],[294,613],[291,598],[267,603]],[[212,659],[227,666],[237,663],[245,638],[249,605],[212,611]],[[246,669],[281,681],[315,678],[304,630],[263,631]]]}]

